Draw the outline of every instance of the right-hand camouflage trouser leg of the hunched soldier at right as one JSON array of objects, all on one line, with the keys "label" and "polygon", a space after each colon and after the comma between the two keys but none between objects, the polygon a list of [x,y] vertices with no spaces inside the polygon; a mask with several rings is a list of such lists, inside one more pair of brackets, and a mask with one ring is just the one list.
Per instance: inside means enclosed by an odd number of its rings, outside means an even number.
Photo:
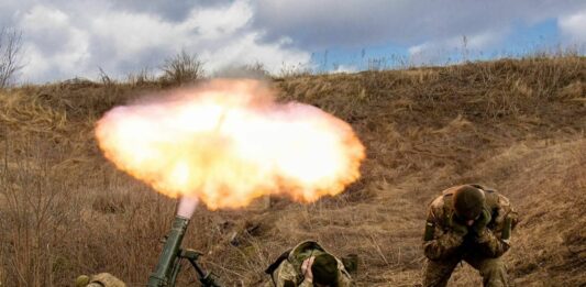
[{"label": "right-hand camouflage trouser leg of the hunched soldier at right", "polygon": [[466,262],[476,268],[483,276],[483,286],[485,287],[508,287],[507,267],[498,258],[466,258]]}]

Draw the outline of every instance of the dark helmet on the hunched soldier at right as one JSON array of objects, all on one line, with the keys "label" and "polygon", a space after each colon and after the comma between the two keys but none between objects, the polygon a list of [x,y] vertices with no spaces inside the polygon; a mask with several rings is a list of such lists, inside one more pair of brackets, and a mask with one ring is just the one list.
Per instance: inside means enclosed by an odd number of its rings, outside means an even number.
[{"label": "dark helmet on the hunched soldier at right", "polygon": [[484,192],[473,186],[463,186],[454,192],[454,211],[464,220],[478,218],[485,205]]}]

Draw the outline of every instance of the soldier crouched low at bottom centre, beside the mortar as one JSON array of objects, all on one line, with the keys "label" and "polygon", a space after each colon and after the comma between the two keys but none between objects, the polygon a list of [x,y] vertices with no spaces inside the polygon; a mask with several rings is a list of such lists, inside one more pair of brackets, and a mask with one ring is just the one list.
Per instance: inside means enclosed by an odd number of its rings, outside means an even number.
[{"label": "soldier crouched low at bottom centre, beside the mortar", "polygon": [[357,257],[338,260],[314,241],[306,241],[285,252],[265,271],[270,287],[355,286],[346,266],[355,272]]}]

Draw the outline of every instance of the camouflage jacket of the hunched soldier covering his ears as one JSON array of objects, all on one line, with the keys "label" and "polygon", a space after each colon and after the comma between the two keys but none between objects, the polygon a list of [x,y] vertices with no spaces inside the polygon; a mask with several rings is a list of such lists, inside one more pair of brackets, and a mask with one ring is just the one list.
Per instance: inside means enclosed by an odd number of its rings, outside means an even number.
[{"label": "camouflage jacket of the hunched soldier covering his ears", "polygon": [[486,207],[491,212],[491,220],[482,234],[475,238],[461,236],[451,229],[451,217],[454,213],[452,198],[462,186],[455,186],[442,191],[428,210],[427,228],[433,230],[433,236],[423,242],[423,252],[430,260],[443,260],[454,255],[482,254],[488,257],[499,257],[510,247],[509,240],[502,240],[505,219],[509,218],[511,230],[518,222],[518,214],[512,209],[509,199],[499,192],[479,185],[472,185],[484,191]]}]

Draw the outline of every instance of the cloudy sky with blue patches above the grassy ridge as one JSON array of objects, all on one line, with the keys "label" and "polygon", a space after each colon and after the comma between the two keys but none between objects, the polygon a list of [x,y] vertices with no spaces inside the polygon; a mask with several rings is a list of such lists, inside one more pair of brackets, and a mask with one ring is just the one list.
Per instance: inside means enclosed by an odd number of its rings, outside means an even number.
[{"label": "cloudy sky with blue patches above the grassy ridge", "polygon": [[557,45],[584,53],[586,1],[1,0],[0,26],[22,31],[21,81],[95,79],[98,67],[123,77],[181,49],[209,74],[256,62],[352,71]]}]

